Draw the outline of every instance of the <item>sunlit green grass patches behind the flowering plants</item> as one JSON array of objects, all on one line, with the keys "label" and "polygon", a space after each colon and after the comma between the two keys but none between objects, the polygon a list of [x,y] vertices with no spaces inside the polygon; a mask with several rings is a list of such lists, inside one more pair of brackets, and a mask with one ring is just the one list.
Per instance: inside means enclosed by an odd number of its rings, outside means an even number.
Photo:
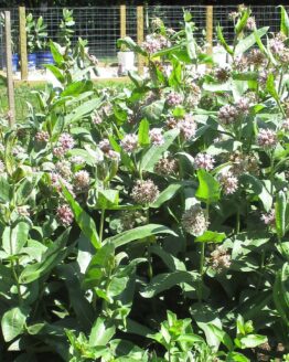
[{"label": "sunlit green grass patches behind the flowering plants", "polygon": [[[96,81],[96,88],[114,87],[118,91],[124,89],[124,87],[129,86],[129,81]],[[15,95],[15,118],[17,121],[23,121],[28,115],[28,103],[32,105],[35,109],[39,108],[36,96],[32,91],[44,91],[45,84],[38,85],[21,85],[14,88]],[[0,84],[0,115],[6,115],[9,109],[8,106],[8,95],[7,86],[4,83]]]}]

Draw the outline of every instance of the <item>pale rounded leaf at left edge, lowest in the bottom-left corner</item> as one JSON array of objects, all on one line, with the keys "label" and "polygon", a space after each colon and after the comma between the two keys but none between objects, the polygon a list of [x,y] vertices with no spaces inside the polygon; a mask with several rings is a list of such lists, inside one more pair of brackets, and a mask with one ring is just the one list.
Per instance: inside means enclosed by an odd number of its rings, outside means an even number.
[{"label": "pale rounded leaf at left edge, lowest in the bottom-left corner", "polygon": [[29,309],[19,307],[4,312],[1,320],[1,328],[6,342],[12,341],[24,331],[28,313]]}]

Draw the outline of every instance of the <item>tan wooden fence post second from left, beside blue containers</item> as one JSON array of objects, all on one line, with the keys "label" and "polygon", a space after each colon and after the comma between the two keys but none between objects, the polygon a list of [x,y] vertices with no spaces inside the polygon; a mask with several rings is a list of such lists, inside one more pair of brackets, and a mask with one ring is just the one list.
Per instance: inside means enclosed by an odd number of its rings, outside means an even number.
[{"label": "tan wooden fence post second from left, beside blue containers", "polygon": [[25,7],[19,7],[19,40],[21,58],[21,79],[28,79],[28,42]]}]

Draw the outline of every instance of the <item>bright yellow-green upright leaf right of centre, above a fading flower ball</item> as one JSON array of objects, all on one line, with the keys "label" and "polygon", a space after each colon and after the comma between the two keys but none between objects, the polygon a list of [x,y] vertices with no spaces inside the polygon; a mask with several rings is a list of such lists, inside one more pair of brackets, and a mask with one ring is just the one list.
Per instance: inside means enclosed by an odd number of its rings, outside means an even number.
[{"label": "bright yellow-green upright leaf right of centre, above a fading flower ball", "polygon": [[221,189],[214,177],[201,169],[197,170],[197,179],[199,188],[195,196],[206,203],[217,202],[220,200]]}]

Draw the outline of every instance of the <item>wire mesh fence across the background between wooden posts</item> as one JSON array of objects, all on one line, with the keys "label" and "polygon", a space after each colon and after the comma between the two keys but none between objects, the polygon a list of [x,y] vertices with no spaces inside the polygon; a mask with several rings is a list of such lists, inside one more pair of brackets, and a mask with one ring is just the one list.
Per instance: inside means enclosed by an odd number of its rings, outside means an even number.
[{"label": "wire mesh fence across the background between wooden posts", "polygon": [[[289,11],[289,6],[286,6]],[[2,9],[11,11],[13,42],[19,39],[19,9]],[[71,8],[75,20],[75,33],[73,43],[78,38],[88,41],[89,52],[104,62],[114,62],[117,55],[117,40],[120,38],[120,7],[90,7]],[[190,11],[196,26],[195,36],[201,39],[206,29],[206,7],[205,6],[153,6],[144,7],[144,35],[149,32],[151,19],[161,18],[167,26],[180,30],[183,23],[183,11]],[[236,6],[215,6],[213,10],[213,25],[220,23],[223,26],[224,36],[229,41],[233,39],[233,22],[229,13],[237,10]],[[280,29],[280,9],[275,6],[251,7],[257,26],[270,26],[270,31],[277,32]],[[26,8],[26,14],[32,13],[35,19],[43,17],[47,25],[49,38],[55,42],[60,40],[58,26],[62,21],[62,8]],[[137,40],[137,7],[126,7],[126,34]],[[3,28],[0,26],[0,50],[4,57]],[[2,62],[2,65],[3,62]]]}]

